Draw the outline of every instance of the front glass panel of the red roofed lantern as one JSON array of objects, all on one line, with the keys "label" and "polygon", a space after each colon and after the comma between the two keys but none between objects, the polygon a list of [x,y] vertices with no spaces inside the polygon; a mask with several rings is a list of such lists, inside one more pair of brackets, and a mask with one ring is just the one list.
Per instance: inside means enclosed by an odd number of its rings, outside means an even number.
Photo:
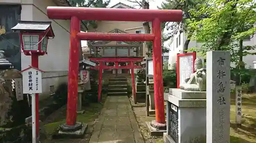
[{"label": "front glass panel of the red roofed lantern", "polygon": [[24,50],[38,50],[38,35],[23,35]]}]

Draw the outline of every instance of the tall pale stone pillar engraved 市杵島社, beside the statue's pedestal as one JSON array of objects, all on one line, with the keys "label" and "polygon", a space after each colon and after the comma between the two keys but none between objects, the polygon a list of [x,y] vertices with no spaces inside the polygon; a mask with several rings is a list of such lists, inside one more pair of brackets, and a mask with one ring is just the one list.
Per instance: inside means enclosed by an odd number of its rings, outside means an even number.
[{"label": "tall pale stone pillar engraved \u5e02\u6775\u5cf6\u793e, beside the statue's pedestal", "polygon": [[206,142],[229,143],[230,52],[206,54]]}]

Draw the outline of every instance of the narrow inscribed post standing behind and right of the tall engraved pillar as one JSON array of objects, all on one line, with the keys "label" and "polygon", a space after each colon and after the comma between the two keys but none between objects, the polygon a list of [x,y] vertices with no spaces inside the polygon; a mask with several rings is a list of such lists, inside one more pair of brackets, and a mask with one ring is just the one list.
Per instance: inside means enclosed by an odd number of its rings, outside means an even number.
[{"label": "narrow inscribed post standing behind and right of the tall engraved pillar", "polygon": [[236,87],[236,123],[241,125],[242,122],[242,87]]}]

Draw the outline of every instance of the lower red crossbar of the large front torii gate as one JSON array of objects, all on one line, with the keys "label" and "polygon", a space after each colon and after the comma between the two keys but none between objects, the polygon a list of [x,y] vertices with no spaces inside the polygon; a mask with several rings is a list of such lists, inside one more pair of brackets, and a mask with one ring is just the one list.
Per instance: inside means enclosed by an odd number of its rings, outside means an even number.
[{"label": "lower red crossbar of the large front torii gate", "polygon": [[153,34],[127,34],[127,33],[78,33],[80,40],[92,41],[153,41]]}]

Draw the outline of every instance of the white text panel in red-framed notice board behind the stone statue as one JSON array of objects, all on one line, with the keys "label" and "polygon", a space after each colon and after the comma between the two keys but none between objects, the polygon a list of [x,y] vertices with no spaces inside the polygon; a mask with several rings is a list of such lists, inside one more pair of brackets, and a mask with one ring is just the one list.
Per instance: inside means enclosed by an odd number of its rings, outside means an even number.
[{"label": "white text panel in red-framed notice board behind the stone statue", "polygon": [[193,55],[179,56],[179,83],[185,83],[185,79],[194,73]]}]

